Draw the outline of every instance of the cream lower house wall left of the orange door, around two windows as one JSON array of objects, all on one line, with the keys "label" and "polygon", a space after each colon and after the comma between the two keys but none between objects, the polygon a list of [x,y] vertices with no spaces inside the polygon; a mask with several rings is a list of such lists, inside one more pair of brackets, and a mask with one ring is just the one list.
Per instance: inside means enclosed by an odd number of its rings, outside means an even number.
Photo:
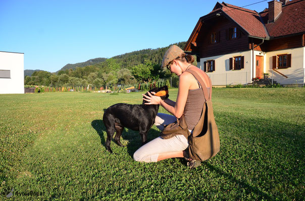
[{"label": "cream lower house wall left of the orange door, around two windows", "polygon": [[[262,53],[260,54],[260,51],[255,51],[254,59],[256,59],[256,55],[264,56]],[[244,68],[240,70],[230,70],[229,58],[236,56],[244,56]],[[215,60],[215,71],[207,72],[213,85],[247,84],[252,80],[252,56],[252,50],[248,50],[232,54],[200,58],[200,62],[197,66],[201,70],[204,70],[203,66],[205,61]],[[254,68],[254,70],[256,69]]]}]

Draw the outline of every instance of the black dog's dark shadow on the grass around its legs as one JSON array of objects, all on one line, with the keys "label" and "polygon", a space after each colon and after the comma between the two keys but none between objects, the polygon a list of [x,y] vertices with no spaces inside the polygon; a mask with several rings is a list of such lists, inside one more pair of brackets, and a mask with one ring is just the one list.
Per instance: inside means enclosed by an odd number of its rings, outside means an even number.
[{"label": "black dog's dark shadow on the grass around its legs", "polygon": [[[100,138],[100,144],[106,148],[106,138],[107,135],[104,136],[104,132],[106,132],[106,127],[104,126],[103,120],[93,120],[91,122],[92,128],[95,129],[97,132],[99,138]],[[158,129],[150,128],[147,135],[147,142],[157,138],[160,136],[160,131]],[[121,138],[124,140],[127,140],[128,143],[122,142],[124,145],[127,146],[127,152],[133,158],[133,153],[142,146],[141,137],[139,135],[138,131],[133,131],[131,129],[125,128]],[[119,146],[115,141],[112,139],[111,141],[111,147]],[[115,151],[114,151],[115,153]]]}]

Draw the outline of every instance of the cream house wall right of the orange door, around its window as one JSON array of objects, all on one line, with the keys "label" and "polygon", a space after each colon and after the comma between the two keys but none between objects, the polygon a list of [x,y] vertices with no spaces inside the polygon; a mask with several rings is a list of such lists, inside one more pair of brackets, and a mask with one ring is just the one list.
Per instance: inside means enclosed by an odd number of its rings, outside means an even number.
[{"label": "cream house wall right of the orange door, around its window", "polygon": [[304,64],[305,64],[305,48],[293,48],[285,49],[279,51],[266,52],[266,71],[269,75],[272,75],[272,57],[279,54],[291,54],[291,67],[284,69],[276,69],[282,74],[286,75],[288,78],[280,75],[279,73],[273,71],[273,79],[280,84],[302,84],[304,81]]}]

